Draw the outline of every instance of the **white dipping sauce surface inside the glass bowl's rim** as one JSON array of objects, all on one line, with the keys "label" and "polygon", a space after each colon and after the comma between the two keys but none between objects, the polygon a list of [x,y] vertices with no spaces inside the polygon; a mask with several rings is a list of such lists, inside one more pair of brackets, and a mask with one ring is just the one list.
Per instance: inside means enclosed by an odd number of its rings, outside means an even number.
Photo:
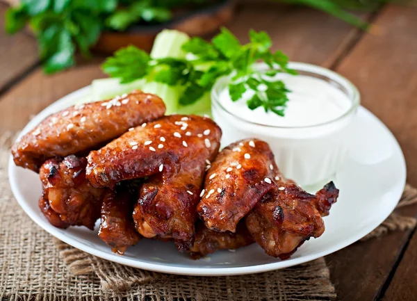
[{"label": "white dipping sauce surface inside the glass bowl's rim", "polygon": [[281,75],[281,81],[286,84],[288,101],[284,117],[271,111],[265,112],[263,107],[251,110],[246,101],[253,95],[247,91],[243,98],[231,101],[229,90],[220,92],[219,101],[222,106],[234,115],[257,124],[273,127],[307,127],[322,124],[341,117],[349,111],[352,101],[331,83],[304,75]]}]

